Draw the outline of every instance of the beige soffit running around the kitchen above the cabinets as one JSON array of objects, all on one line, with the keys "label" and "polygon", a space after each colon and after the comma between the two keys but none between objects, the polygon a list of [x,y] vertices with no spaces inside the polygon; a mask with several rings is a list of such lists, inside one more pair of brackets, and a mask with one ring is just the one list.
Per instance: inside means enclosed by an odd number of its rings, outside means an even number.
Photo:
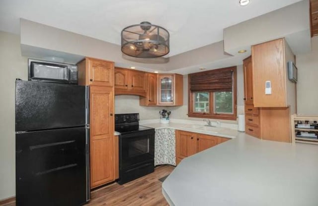
[{"label": "beige soffit running around the kitchen above the cabinets", "polygon": [[[251,45],[282,37],[294,54],[310,52],[309,28],[309,1],[300,1],[225,28],[224,41],[168,58],[145,60],[128,57],[121,53],[120,45],[26,19],[20,19],[20,44],[24,56],[57,56],[68,63],[77,63],[84,56],[91,56],[114,61],[118,67],[129,67],[133,61],[143,71],[187,74],[199,67],[215,69],[240,65],[242,59],[250,55]],[[238,53],[239,50],[247,52]]]}]

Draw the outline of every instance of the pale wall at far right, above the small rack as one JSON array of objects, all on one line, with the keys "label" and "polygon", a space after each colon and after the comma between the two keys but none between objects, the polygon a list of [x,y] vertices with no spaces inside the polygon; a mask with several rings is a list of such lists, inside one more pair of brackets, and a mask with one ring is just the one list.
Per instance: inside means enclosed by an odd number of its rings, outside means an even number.
[{"label": "pale wall at far right, above the small rack", "polygon": [[312,52],[296,55],[298,68],[297,113],[318,116],[318,36],[312,38]]}]

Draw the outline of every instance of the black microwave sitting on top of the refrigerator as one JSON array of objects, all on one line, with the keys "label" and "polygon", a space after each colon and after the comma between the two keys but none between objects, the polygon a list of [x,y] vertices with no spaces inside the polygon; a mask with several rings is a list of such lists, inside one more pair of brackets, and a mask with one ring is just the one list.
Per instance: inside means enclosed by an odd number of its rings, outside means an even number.
[{"label": "black microwave sitting on top of the refrigerator", "polygon": [[29,59],[29,81],[78,84],[78,67],[74,64]]}]

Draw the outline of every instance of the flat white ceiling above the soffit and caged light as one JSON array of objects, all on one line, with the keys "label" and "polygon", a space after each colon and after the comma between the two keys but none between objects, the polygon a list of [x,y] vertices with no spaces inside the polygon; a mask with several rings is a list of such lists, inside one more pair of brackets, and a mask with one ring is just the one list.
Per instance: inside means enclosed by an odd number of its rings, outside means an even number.
[{"label": "flat white ceiling above the soffit and caged light", "polygon": [[[0,0],[0,30],[19,18],[120,45],[120,32],[149,21],[170,33],[173,56],[223,40],[223,29],[300,0]],[[167,57],[166,56],[166,57]]]}]

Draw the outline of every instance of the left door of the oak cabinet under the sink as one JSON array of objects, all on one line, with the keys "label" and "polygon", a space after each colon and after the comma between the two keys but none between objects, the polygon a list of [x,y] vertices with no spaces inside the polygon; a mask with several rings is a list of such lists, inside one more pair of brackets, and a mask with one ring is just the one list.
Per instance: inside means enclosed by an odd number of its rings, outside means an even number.
[{"label": "left door of the oak cabinet under the sink", "polygon": [[191,132],[178,131],[176,133],[176,163],[183,158],[196,153],[196,135]]}]

